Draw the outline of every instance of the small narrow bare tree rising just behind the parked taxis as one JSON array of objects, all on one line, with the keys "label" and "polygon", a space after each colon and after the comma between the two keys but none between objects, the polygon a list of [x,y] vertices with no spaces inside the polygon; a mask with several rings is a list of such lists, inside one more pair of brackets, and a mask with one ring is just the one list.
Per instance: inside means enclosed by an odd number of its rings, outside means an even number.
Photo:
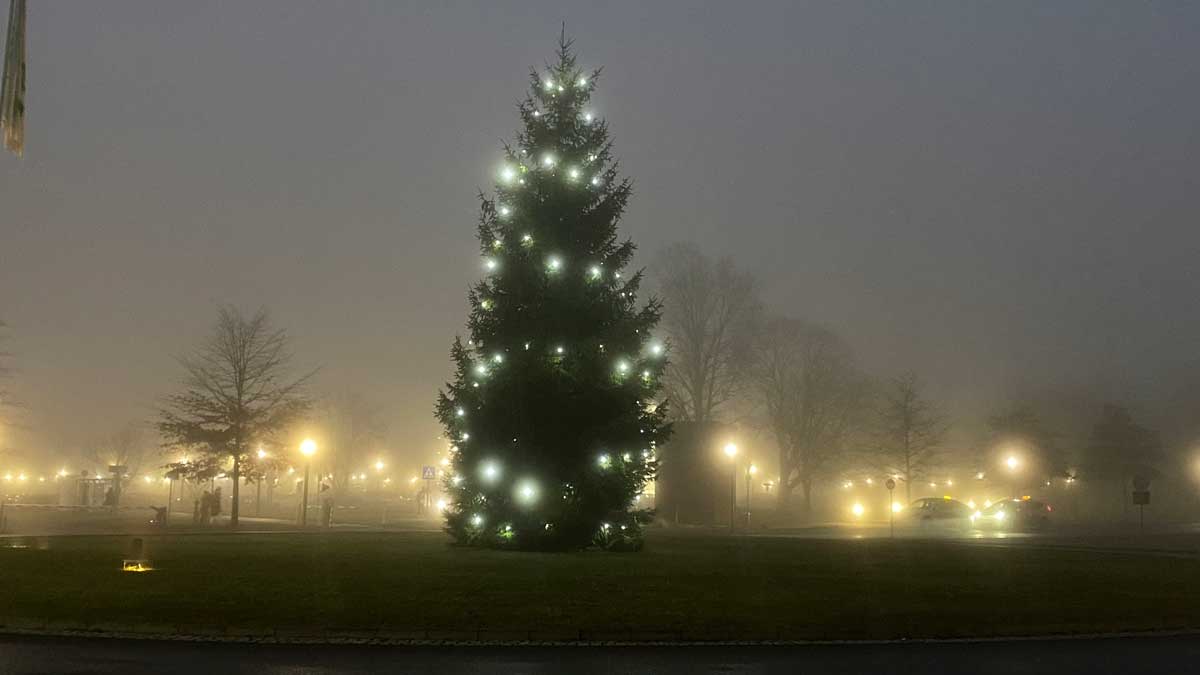
[{"label": "small narrow bare tree rising just behind the parked taxis", "polygon": [[905,503],[910,503],[913,482],[928,478],[941,459],[946,418],[936,405],[922,398],[917,375],[906,372],[888,382],[876,422],[882,468],[904,480]]}]

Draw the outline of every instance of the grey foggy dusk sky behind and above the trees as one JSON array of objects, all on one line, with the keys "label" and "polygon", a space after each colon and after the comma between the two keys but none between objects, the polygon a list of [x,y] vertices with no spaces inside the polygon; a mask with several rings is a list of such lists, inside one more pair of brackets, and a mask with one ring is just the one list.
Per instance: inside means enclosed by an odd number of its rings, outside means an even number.
[{"label": "grey foggy dusk sky behind and above the trees", "polygon": [[1198,368],[1198,5],[36,2],[0,157],[28,430],[0,447],[149,419],[234,303],[318,393],[382,404],[391,452],[438,448],[475,193],[564,20],[642,263],[727,252],[960,420]]}]

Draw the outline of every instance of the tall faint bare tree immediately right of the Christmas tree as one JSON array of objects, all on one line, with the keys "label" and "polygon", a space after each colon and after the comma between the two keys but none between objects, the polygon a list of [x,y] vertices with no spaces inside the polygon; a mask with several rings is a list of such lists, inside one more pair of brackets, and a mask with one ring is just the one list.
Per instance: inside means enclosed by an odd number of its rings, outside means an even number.
[{"label": "tall faint bare tree immediately right of the Christmas tree", "polygon": [[744,381],[750,338],[762,311],[758,282],[728,257],[691,244],[661,251],[654,264],[662,328],[671,342],[666,395],[683,422],[713,422]]}]

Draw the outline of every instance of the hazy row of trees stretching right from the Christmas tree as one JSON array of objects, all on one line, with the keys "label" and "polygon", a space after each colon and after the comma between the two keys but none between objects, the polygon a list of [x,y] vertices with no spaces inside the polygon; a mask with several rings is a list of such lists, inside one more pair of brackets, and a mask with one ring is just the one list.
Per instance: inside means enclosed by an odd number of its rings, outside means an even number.
[{"label": "hazy row of trees stretching right from the Christmas tree", "polygon": [[814,485],[847,472],[894,476],[911,500],[914,484],[944,477],[948,467],[995,470],[1012,448],[1020,449],[1028,482],[1084,472],[1122,486],[1165,461],[1158,435],[1114,404],[1096,411],[1074,462],[1027,402],[990,416],[976,441],[949,447],[952,420],[918,374],[864,372],[834,329],[767,309],[758,280],[732,258],[676,244],[652,270],[671,347],[665,390],[674,422],[736,422],[764,432],[778,453],[781,509],[808,516]]}]

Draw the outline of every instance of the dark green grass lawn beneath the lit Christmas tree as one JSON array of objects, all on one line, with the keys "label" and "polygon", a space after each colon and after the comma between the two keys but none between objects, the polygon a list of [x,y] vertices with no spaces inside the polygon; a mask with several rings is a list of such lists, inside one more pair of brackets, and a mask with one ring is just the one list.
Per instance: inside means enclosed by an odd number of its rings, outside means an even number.
[{"label": "dark green grass lawn beneath the lit Christmas tree", "polygon": [[842,639],[1200,628],[1200,561],[920,540],[652,533],[641,554],[440,533],[0,542],[0,623],[570,639]]}]

